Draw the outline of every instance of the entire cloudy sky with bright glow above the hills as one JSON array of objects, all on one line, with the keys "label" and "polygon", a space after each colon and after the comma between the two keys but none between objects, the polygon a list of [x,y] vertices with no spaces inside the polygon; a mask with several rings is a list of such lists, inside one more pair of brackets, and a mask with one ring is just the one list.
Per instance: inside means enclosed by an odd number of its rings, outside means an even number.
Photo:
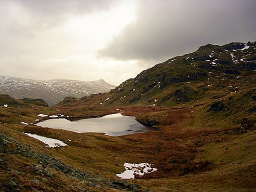
[{"label": "entire cloudy sky with bright glow above the hills", "polygon": [[208,43],[256,41],[255,0],[0,0],[0,74],[119,85]]}]

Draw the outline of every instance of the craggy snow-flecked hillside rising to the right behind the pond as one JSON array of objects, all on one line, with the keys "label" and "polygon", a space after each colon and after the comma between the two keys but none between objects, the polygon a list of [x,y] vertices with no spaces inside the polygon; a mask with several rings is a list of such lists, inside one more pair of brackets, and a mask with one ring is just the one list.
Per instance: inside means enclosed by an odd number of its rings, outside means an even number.
[{"label": "craggy snow-flecked hillside rising to the right behind the pond", "polygon": [[255,42],[207,44],[142,71],[110,93],[85,97],[83,102],[104,106],[179,106],[213,101],[255,87],[255,49]]}]

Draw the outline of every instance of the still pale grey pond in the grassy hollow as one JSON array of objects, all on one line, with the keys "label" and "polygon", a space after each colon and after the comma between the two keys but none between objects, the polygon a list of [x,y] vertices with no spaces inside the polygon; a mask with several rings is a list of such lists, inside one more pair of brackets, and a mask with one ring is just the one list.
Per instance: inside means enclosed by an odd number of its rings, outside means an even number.
[{"label": "still pale grey pond in the grassy hollow", "polygon": [[37,123],[41,127],[63,129],[77,133],[97,132],[110,136],[121,136],[147,132],[147,127],[135,120],[135,117],[124,116],[122,114],[106,115],[98,118],[79,119],[69,121],[65,118],[48,119]]}]

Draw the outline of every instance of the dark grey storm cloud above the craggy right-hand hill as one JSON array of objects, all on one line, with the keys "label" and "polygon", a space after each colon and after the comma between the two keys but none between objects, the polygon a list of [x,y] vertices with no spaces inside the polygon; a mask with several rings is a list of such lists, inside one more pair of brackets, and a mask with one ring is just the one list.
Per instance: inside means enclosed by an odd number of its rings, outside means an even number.
[{"label": "dark grey storm cloud above the craggy right-hand hill", "polygon": [[138,18],[99,51],[118,60],[162,61],[199,46],[255,41],[256,1],[140,1]]}]

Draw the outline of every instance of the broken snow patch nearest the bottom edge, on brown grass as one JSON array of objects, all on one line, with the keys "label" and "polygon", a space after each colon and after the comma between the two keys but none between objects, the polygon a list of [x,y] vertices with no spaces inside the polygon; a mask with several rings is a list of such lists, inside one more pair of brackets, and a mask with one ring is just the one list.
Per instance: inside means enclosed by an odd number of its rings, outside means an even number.
[{"label": "broken snow patch nearest the bottom edge, on brown grass", "polygon": [[151,164],[149,163],[140,163],[140,164],[133,164],[133,163],[124,163],[125,171],[120,174],[116,174],[117,177],[122,179],[134,179],[135,174],[143,176],[147,173],[153,173],[157,171],[156,168],[152,168]]}]

